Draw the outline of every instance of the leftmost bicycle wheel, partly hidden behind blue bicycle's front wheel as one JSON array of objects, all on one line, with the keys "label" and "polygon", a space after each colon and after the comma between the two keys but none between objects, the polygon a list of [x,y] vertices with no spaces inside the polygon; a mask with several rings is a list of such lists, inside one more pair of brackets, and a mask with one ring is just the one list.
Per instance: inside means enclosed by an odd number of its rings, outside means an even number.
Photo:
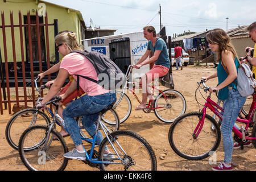
[{"label": "leftmost bicycle wheel, partly hidden behind blue bicycle's front wheel", "polygon": [[19,138],[28,127],[32,125],[49,125],[50,120],[42,111],[36,109],[24,109],[15,113],[9,120],[5,129],[7,142],[15,150],[18,150]]}]

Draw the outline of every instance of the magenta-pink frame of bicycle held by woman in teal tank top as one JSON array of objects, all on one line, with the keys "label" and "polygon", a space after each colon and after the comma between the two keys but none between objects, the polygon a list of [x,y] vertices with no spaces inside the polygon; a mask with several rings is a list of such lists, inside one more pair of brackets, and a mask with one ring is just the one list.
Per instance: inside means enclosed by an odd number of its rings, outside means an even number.
[{"label": "magenta-pink frame of bicycle held by woman in teal tank top", "polygon": [[[207,97],[207,100],[205,102],[205,105],[204,105],[204,108],[202,110],[202,117],[200,118],[199,120],[199,124],[196,126],[196,129],[193,133],[193,138],[197,138],[200,134],[200,131],[201,129],[203,128],[203,125],[204,125],[204,119],[205,119],[205,114],[206,114],[206,110],[207,110],[207,107],[214,113],[217,115],[218,118],[221,119],[222,121],[222,118],[223,118],[223,115],[221,114],[220,111],[218,111],[218,109],[220,109],[221,111],[224,112],[224,109],[216,104],[216,102],[214,102],[213,100],[210,99],[210,94],[209,93],[209,96]],[[249,124],[250,124],[250,121],[251,121],[251,118],[253,117],[253,113],[256,109],[256,102],[255,102],[255,97],[253,97],[253,104],[251,105],[251,108],[250,108],[250,112],[249,112],[249,118],[247,117],[247,119],[240,119],[240,118],[237,118],[237,121],[238,122],[241,122],[241,123],[245,123],[246,124],[246,127],[245,127],[245,130],[248,129],[249,127]],[[233,127],[233,132],[240,138],[242,138],[242,133],[236,128],[236,127]],[[245,137],[246,140],[255,140],[256,138],[252,138],[252,137]]]}]

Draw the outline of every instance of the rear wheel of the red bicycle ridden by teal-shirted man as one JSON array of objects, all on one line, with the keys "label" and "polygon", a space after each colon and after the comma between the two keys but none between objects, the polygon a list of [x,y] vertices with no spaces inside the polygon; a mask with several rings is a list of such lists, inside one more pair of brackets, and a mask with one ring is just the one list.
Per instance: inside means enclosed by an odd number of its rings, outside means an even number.
[{"label": "rear wheel of the red bicycle ridden by teal-shirted man", "polygon": [[160,121],[172,123],[181,114],[184,114],[187,108],[186,100],[180,92],[176,90],[164,90],[160,93],[154,102],[154,113]]}]

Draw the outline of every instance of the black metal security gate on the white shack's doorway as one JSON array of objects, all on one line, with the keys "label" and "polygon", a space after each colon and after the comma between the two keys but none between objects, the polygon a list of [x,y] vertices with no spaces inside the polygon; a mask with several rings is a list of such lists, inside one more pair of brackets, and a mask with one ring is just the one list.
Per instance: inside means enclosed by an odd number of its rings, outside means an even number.
[{"label": "black metal security gate on the white shack's doorway", "polygon": [[126,73],[128,66],[131,64],[130,39],[120,38],[111,40],[109,50],[110,59],[117,64],[123,73]]}]

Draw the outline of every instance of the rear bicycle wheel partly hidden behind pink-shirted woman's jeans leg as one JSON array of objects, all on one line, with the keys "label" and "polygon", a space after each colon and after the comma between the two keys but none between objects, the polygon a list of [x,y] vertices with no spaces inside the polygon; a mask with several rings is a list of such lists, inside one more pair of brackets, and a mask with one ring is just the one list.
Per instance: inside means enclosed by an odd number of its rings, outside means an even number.
[{"label": "rear bicycle wheel partly hidden behind pink-shirted woman's jeans leg", "polygon": [[[101,121],[110,131],[117,131],[119,130],[119,118],[117,112],[114,109],[109,109],[104,113],[101,117]],[[111,122],[110,122],[111,121]],[[110,123],[110,124],[109,124]],[[90,135],[85,130],[84,126],[82,126],[82,116],[77,119],[77,124],[79,125],[80,134],[84,138],[90,138]],[[88,142],[88,141],[87,141]],[[92,143],[92,142],[89,142]]]}]

